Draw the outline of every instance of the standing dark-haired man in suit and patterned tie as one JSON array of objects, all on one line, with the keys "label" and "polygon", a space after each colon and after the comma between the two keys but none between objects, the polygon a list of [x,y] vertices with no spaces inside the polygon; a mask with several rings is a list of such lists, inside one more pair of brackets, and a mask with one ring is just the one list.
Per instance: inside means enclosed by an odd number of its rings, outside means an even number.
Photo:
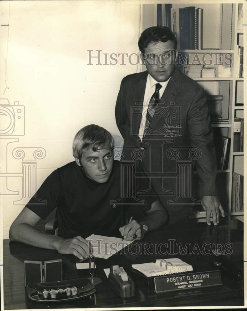
[{"label": "standing dark-haired man in suit and patterned tie", "polygon": [[[169,224],[187,220],[191,194],[180,193],[184,201],[176,201],[179,189],[185,192],[183,189],[187,189],[190,179],[185,180],[179,172],[177,179],[174,178],[177,163],[167,151],[173,148],[181,161],[188,159],[188,150],[195,147],[201,154],[196,160],[198,194],[206,210],[207,224],[211,224],[212,214],[217,225],[224,210],[216,190],[216,152],[206,95],[195,81],[175,68],[177,39],[168,27],[145,29],[138,46],[147,71],[124,77],[116,101],[116,124],[124,138],[124,147],[144,150],[141,161],[144,172],[170,173],[170,177],[150,179],[168,212]],[[127,159],[128,155],[125,156]]]}]

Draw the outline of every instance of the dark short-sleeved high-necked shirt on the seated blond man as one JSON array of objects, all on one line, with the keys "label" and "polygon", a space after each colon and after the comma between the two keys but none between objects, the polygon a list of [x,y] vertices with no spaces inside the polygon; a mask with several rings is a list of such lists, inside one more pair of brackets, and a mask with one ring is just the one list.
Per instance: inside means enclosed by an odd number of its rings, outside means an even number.
[{"label": "dark short-sleeved high-necked shirt on the seated blond man", "polygon": [[[157,199],[155,195],[138,194],[138,191],[150,188],[148,179],[143,176],[135,179],[135,199],[130,195],[114,204],[111,201],[120,199],[121,186],[126,182],[122,180],[121,183],[120,176],[119,161],[114,160],[105,183],[89,179],[75,161],[70,162],[45,179],[26,207],[42,219],[57,207],[58,235],[64,238],[78,235],[87,238],[91,234],[120,237],[118,229],[126,225],[127,219],[140,217],[142,211],[149,210]],[[136,199],[145,203],[138,204]]]}]

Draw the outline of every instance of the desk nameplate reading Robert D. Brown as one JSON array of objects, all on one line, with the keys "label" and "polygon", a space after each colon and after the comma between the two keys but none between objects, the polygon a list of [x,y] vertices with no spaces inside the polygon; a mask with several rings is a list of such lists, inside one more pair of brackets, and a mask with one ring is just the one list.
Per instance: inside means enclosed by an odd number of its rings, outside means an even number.
[{"label": "desk nameplate reading Robert D. Brown", "polygon": [[154,277],[156,293],[222,285],[220,270],[179,273]]}]

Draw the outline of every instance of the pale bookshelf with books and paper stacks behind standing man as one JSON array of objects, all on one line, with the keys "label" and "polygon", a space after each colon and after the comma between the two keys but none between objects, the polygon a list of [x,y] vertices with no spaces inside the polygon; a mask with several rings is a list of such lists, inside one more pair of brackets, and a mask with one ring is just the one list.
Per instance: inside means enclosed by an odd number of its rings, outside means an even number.
[{"label": "pale bookshelf with books and paper stacks behind standing man", "polygon": [[[144,30],[151,26],[171,25],[170,28],[176,34],[178,40],[178,52],[182,53],[182,55],[187,54],[188,59],[190,57],[193,57],[195,53],[199,55],[200,59],[204,53],[208,53],[213,56],[216,55],[222,58],[225,58],[226,55],[231,55],[232,63],[230,65],[229,76],[228,75],[226,75],[226,77],[224,76],[217,77],[217,75],[215,75],[215,77],[201,76],[192,79],[197,81],[197,83],[205,90],[207,95],[222,95],[224,98],[222,100],[222,111],[223,111],[222,115],[223,119],[227,119],[228,122],[212,123],[212,129],[214,136],[218,135],[230,138],[230,155],[228,167],[225,167],[226,169],[217,170],[217,185],[220,186],[218,187],[219,197],[221,204],[224,207],[226,217],[228,217],[229,219],[237,218],[243,221],[244,212],[235,211],[232,209],[233,173],[235,172],[243,174],[244,171],[244,161],[243,161],[244,151],[236,152],[234,151],[233,148],[235,118],[244,118],[244,77],[241,77],[240,75],[239,46],[244,46],[245,39],[244,39],[244,30],[238,29],[239,28],[238,26],[241,23],[243,23],[242,21],[239,21],[240,3],[243,2],[239,1],[239,3],[214,3],[214,4],[213,3],[143,4],[141,8],[142,12],[141,26],[142,30]],[[191,49],[191,48],[186,49],[184,46],[185,44],[183,39],[182,42],[184,48],[180,49],[181,28],[179,28],[179,12],[186,10],[184,9],[186,7],[202,8],[203,11],[203,19],[202,19],[203,24],[200,26],[202,27],[200,28],[202,29],[201,39],[198,39],[198,24],[197,24],[198,41],[197,44],[195,44],[195,47],[197,47],[198,49]],[[168,11],[168,13],[166,10]],[[169,15],[171,17],[167,17]],[[193,44],[194,43],[192,43],[192,47]],[[188,46],[191,47],[191,43],[190,45],[188,44]],[[142,69],[145,70],[145,67],[143,67]],[[197,172],[194,171],[195,179],[196,176]],[[194,208],[193,215],[191,217],[195,218],[198,222],[206,221],[206,212],[203,210],[202,206],[197,206]]]}]

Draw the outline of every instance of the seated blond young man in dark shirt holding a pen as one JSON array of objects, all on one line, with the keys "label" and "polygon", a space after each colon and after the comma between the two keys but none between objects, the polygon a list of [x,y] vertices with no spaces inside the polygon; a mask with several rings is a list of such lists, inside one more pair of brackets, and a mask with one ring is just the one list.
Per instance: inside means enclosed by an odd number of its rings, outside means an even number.
[{"label": "seated blond young man in dark shirt holding a pen", "polygon": [[[146,213],[141,221],[132,219],[126,225],[129,207],[111,204],[120,198],[122,178],[120,162],[111,157],[112,147],[112,136],[104,128],[94,124],[82,128],[73,141],[75,161],[48,176],[11,225],[10,239],[83,259],[91,253],[85,240],[91,234],[116,236],[120,231],[124,239],[133,240],[163,225],[167,215],[157,198],[137,195],[138,190],[149,188],[145,178],[135,184],[136,197],[145,204],[132,209],[139,211],[136,215],[142,214],[140,210]],[[35,229],[55,207],[58,236]]]}]

